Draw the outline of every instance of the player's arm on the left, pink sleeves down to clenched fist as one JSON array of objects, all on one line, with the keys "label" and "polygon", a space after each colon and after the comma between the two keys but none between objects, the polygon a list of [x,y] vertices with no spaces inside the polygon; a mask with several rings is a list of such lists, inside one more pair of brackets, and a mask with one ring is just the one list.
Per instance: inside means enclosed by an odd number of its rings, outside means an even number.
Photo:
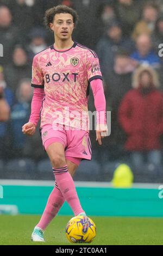
[{"label": "player's arm on the left, pink sleeves down to clenched fist", "polygon": [[29,136],[34,135],[37,123],[39,123],[42,101],[45,96],[44,89],[43,89],[44,88],[43,74],[39,67],[39,60],[37,58],[37,55],[33,59],[31,86],[34,87],[34,94],[33,94],[33,99],[31,104],[31,114],[30,114],[29,122],[22,126],[22,132],[25,135],[29,135]]}]

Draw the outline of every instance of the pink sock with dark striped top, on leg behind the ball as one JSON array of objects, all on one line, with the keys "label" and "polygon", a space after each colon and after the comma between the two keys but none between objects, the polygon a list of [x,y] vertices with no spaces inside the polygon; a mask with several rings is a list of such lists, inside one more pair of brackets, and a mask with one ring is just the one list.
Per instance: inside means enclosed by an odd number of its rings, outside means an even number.
[{"label": "pink sock with dark striped top, on leg behind the ball", "polygon": [[55,181],[67,203],[71,206],[74,215],[77,216],[84,212],[80,205],[72,176],[68,172],[67,165],[61,168],[53,168],[53,173],[55,175]]}]

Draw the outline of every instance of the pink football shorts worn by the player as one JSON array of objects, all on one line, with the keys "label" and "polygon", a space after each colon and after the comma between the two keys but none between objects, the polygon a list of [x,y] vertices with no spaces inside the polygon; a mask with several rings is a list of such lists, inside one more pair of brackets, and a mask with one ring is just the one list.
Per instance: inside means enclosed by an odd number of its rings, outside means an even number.
[{"label": "pink football shorts worn by the player", "polygon": [[65,148],[65,158],[80,164],[83,159],[91,160],[91,141],[89,132],[75,130],[62,124],[47,124],[40,128],[43,148],[46,150],[54,142]]}]

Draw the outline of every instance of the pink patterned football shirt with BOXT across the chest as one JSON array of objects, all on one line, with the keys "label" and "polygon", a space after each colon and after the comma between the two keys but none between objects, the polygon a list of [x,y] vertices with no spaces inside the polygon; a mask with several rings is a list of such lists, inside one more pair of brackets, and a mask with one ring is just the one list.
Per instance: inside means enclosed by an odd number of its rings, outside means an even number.
[{"label": "pink patterned football shirt with BOXT across the chest", "polygon": [[87,100],[96,78],[102,79],[97,54],[77,42],[69,50],[58,51],[52,45],[36,54],[32,87],[45,90],[41,127],[58,123],[89,131]]}]

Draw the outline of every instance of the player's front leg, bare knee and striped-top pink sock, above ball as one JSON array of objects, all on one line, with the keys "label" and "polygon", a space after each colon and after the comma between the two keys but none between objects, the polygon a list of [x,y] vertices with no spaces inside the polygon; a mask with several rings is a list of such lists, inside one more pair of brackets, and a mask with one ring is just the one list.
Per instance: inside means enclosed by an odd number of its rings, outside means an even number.
[{"label": "player's front leg, bare knee and striped-top pink sock, above ball", "polygon": [[62,195],[71,206],[74,215],[79,215],[84,211],[80,205],[72,176],[68,172],[64,146],[58,142],[52,143],[46,151],[52,162],[55,181],[57,182]]}]

